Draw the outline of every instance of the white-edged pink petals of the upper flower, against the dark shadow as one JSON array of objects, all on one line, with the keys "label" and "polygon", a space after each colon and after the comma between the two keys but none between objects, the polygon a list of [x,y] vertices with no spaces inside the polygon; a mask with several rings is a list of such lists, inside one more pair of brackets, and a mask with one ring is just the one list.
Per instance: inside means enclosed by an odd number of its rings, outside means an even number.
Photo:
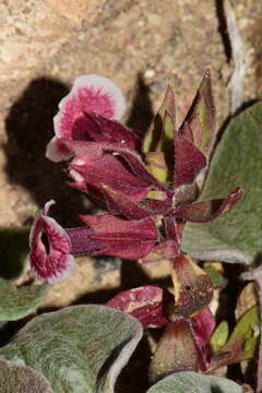
[{"label": "white-edged pink petals of the upper flower, against the dark shadow", "polygon": [[53,118],[56,136],[47,145],[46,156],[53,162],[71,157],[61,140],[84,140],[87,114],[120,119],[124,109],[122,92],[115,83],[98,75],[79,76],[71,92],[59,104],[59,112]]}]

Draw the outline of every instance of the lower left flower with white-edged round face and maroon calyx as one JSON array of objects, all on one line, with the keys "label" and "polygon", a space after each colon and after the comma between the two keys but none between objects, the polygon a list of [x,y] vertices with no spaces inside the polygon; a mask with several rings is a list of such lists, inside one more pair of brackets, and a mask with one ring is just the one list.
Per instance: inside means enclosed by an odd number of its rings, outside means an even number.
[{"label": "lower left flower with white-edged round face and maroon calyx", "polygon": [[63,229],[48,216],[53,201],[39,211],[31,230],[31,271],[35,278],[57,284],[72,273],[73,255],[114,255],[140,259],[158,241],[151,218],[127,221],[111,215],[81,216],[85,227]]}]

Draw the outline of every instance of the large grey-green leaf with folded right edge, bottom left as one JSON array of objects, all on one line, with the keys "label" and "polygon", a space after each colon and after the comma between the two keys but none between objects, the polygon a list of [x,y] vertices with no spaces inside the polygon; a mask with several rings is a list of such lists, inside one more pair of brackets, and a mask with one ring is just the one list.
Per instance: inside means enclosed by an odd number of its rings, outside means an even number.
[{"label": "large grey-green leaf with folded right edge, bottom left", "polygon": [[32,320],[0,357],[43,372],[56,393],[112,393],[142,337],[132,317],[104,306],[74,306]]}]

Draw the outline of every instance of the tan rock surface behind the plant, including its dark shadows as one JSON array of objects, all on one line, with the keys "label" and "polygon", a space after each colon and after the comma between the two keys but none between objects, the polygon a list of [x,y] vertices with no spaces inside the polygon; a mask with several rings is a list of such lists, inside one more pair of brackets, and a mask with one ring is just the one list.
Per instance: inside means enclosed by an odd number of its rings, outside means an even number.
[{"label": "tan rock surface behind the plant, including its dark shadows", "polygon": [[[262,2],[235,0],[233,5],[249,62],[249,103],[262,94]],[[2,0],[0,225],[31,225],[50,199],[63,225],[74,225],[76,215],[88,210],[83,196],[64,184],[63,165],[45,158],[58,103],[76,76],[110,78],[127,97],[126,122],[145,130],[168,81],[181,121],[206,68],[219,129],[229,115],[227,84],[234,70],[223,0]],[[78,279],[57,287],[49,305],[63,306],[84,296],[90,285],[95,291],[119,279],[110,263],[96,264],[98,275],[90,271],[92,264],[79,266]],[[107,282],[108,271],[115,273]],[[157,267],[152,271],[156,278],[167,275],[168,266],[160,274]],[[141,274],[140,282],[130,279],[126,287],[146,282],[147,273]]]}]

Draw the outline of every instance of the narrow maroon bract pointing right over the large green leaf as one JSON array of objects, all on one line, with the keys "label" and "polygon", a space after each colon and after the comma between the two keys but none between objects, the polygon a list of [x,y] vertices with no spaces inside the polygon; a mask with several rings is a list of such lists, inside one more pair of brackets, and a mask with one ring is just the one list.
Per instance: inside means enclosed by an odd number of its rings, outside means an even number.
[{"label": "narrow maroon bract pointing right over the large green leaf", "polygon": [[184,204],[177,207],[174,215],[192,223],[209,223],[229,210],[242,199],[243,191],[236,188],[226,199]]}]

